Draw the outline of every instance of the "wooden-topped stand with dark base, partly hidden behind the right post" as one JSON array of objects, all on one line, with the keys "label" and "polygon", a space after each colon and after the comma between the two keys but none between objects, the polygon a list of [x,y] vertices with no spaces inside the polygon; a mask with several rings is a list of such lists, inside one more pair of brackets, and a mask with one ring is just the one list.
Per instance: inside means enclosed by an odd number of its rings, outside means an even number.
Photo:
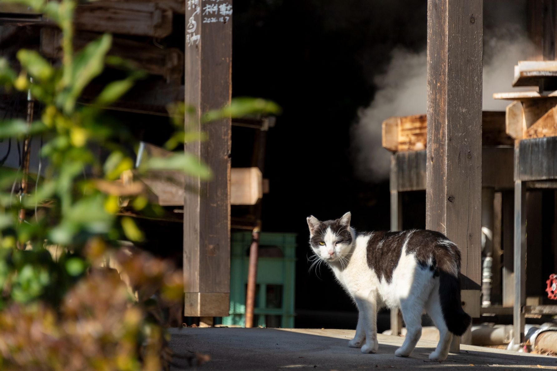
[{"label": "wooden-topped stand with dark base, partly hidden behind the right post", "polygon": [[[506,212],[504,220],[508,223],[512,219],[512,195],[510,190],[514,187],[513,166],[514,150],[512,140],[505,133],[505,112],[485,111],[482,113],[482,195],[490,197],[482,200],[483,205],[488,205],[487,214],[494,214],[495,192],[501,192],[503,210]],[[383,146],[392,151],[390,160],[390,229],[402,230],[403,204],[400,192],[425,191],[427,188],[427,147],[426,144],[427,122],[426,115],[405,117],[390,117],[383,122]],[[421,148],[422,150],[412,150]],[[501,206],[499,206],[501,207]],[[499,219],[501,222],[501,219]],[[501,230],[501,226],[496,228]],[[511,244],[510,238],[504,243]],[[511,246],[509,246],[511,247]],[[507,262],[508,263],[508,262]],[[512,269],[508,275],[512,274]],[[512,279],[512,277],[511,277]],[[507,275],[504,280],[509,280]],[[468,303],[470,307],[472,303]],[[474,301],[475,309],[468,310],[480,315],[479,301]],[[400,315],[391,313],[391,329],[393,334],[400,334],[402,321]]]}]

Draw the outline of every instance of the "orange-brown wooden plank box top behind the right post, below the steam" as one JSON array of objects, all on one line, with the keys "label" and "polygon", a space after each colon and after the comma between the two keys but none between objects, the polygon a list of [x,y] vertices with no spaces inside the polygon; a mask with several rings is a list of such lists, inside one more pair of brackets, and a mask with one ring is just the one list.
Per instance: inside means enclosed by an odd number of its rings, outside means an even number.
[{"label": "orange-brown wooden plank box top behind the right post, below the steam", "polygon": [[[482,144],[512,145],[505,132],[505,112],[482,112]],[[421,151],[427,147],[427,116],[394,116],[383,121],[382,145],[392,152]]]}]

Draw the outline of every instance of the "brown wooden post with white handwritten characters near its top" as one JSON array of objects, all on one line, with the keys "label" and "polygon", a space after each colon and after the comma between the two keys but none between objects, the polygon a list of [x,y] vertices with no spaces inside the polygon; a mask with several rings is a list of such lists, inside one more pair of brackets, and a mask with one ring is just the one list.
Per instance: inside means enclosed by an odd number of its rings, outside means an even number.
[{"label": "brown wooden post with white handwritten characters near its top", "polygon": [[[204,21],[216,22],[204,23]],[[231,98],[232,0],[187,0],[185,11],[185,127],[201,130],[199,117]],[[187,179],[184,200],[186,316],[226,316],[230,293],[231,120],[203,126],[208,140],[187,144],[213,171],[213,179]],[[194,191],[192,191],[192,189]],[[197,191],[198,190],[198,191]]]}]

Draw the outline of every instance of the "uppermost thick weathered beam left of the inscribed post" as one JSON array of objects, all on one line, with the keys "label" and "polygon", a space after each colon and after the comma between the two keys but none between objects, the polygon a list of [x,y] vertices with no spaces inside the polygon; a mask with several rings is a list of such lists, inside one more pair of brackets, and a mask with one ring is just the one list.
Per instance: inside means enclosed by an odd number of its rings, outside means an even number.
[{"label": "uppermost thick weathered beam left of the inscribed post", "polygon": [[172,10],[155,2],[101,0],[79,4],[74,24],[84,31],[162,38],[172,32]]}]

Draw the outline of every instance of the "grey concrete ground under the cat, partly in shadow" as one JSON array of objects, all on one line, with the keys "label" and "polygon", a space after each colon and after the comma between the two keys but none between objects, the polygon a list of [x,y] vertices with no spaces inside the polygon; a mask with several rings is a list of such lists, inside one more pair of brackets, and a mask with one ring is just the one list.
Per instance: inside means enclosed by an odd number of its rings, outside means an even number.
[{"label": "grey concrete ground under the cat, partly in shadow", "polygon": [[[557,369],[557,357],[546,357],[507,350],[461,345],[461,352],[449,354],[446,361],[430,362],[428,354],[435,342],[420,340],[409,358],[394,356],[402,337],[378,335],[379,350],[362,354],[348,347],[353,330],[325,329],[243,329],[183,328],[171,329],[170,347],[175,354],[191,357],[208,354],[205,370],[279,370],[320,369]],[[187,368],[184,359],[176,359],[173,370]]]}]

